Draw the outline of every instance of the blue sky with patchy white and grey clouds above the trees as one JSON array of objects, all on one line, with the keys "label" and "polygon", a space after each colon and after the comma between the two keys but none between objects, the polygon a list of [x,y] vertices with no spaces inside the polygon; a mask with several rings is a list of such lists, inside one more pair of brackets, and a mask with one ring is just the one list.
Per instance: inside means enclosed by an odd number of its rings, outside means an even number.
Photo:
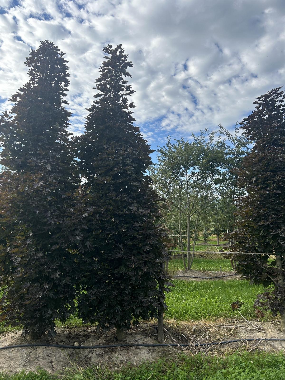
[{"label": "blue sky with patchy white and grey clouds above the trees", "polygon": [[167,135],[232,128],[257,96],[285,84],[284,0],[0,0],[0,110],[44,39],[69,61],[76,134],[102,47],[122,43],[134,65],[136,123],[154,149]]}]

